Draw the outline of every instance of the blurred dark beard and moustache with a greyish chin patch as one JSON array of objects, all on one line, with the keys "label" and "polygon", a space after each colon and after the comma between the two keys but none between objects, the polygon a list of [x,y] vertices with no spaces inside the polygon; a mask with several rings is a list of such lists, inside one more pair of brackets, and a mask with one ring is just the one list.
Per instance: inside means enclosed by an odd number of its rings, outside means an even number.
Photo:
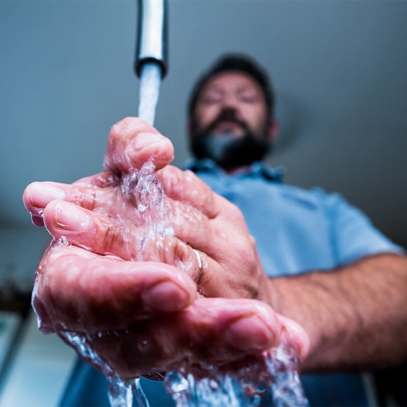
[{"label": "blurred dark beard and moustache with a greyish chin patch", "polygon": [[[241,137],[212,134],[215,126],[222,120],[239,124],[244,128],[245,134]],[[271,151],[271,143],[267,138],[266,126],[262,134],[254,134],[245,122],[238,120],[228,110],[222,111],[218,118],[201,131],[192,124],[190,148],[196,158],[212,158],[222,168],[229,169],[262,160]]]}]

